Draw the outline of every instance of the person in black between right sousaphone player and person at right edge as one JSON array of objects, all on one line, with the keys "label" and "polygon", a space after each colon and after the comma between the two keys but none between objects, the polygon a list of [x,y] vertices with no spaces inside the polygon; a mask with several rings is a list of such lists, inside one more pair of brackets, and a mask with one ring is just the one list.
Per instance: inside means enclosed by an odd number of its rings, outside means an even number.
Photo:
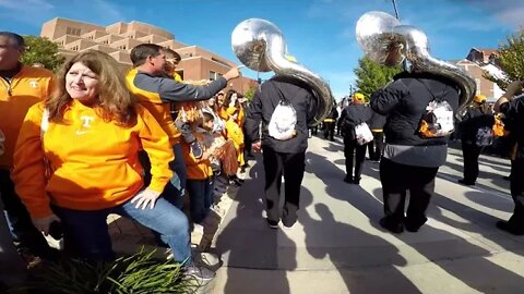
[{"label": "person in black between right sousaphone player and person at right edge", "polygon": [[480,128],[491,130],[493,124],[493,114],[486,103],[486,96],[476,95],[460,123],[464,179],[458,180],[458,183],[475,185],[478,176],[478,157],[485,147],[477,135]]}]

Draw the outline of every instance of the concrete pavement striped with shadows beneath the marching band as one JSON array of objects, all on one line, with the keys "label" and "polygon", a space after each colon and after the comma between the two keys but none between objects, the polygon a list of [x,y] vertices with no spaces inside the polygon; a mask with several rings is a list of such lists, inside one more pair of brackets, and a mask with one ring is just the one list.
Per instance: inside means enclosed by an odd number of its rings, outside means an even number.
[{"label": "concrete pavement striped with shadows beneath the marching band", "polygon": [[379,166],[360,186],[343,182],[342,144],[313,137],[298,223],[272,230],[263,219],[263,169],[250,170],[213,240],[222,256],[212,293],[522,293],[524,237],[495,228],[513,209],[509,161],[483,156],[478,184],[462,177],[450,149],[428,223],[418,233],[384,232]]}]

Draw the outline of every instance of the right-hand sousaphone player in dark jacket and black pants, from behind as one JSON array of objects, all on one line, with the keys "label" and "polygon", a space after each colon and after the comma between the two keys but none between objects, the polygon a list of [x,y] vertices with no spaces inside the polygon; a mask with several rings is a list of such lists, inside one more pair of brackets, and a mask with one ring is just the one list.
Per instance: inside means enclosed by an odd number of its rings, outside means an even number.
[{"label": "right-hand sousaphone player in dark jacket and black pants, from behind", "polygon": [[[384,218],[380,225],[393,233],[417,232],[426,223],[426,209],[434,192],[434,177],[448,155],[448,136],[420,135],[421,118],[432,100],[446,101],[453,113],[458,108],[455,82],[431,73],[403,72],[371,98],[371,108],[388,115],[385,147],[380,161]],[[404,215],[406,192],[409,205]]]}]

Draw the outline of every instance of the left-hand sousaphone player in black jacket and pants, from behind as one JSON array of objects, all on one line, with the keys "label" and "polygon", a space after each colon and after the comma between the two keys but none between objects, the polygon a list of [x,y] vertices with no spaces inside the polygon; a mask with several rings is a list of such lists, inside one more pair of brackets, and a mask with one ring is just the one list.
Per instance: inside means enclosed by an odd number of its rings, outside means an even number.
[{"label": "left-hand sousaphone player in black jacket and pants, from behind", "polygon": [[[276,139],[266,128],[281,100],[287,100],[295,109],[296,135],[289,139]],[[282,223],[290,228],[297,221],[300,186],[306,168],[308,148],[308,122],[314,117],[315,100],[310,87],[297,78],[273,76],[255,91],[246,115],[246,136],[252,142],[252,150],[262,149],[265,171],[265,204],[267,223],[278,228],[281,221],[279,195],[282,176],[286,179],[285,201]],[[259,139],[259,124],[262,122],[262,140]]]}]

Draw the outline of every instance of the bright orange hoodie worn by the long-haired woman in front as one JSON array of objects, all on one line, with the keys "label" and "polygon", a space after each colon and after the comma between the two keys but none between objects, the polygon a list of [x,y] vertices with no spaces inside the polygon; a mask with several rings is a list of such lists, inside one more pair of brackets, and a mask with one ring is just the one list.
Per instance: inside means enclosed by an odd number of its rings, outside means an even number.
[{"label": "bright orange hoodie worn by the long-haired woman in front", "polygon": [[[24,120],[14,154],[12,179],[31,216],[49,216],[49,203],[63,208],[98,210],[126,203],[143,186],[138,154],[147,152],[152,181],[163,192],[172,175],[169,139],[153,115],[136,106],[138,122],[123,127],[105,122],[93,108],[72,101],[67,123],[49,122],[40,140],[44,103],[33,106]],[[43,146],[44,145],[44,146]],[[53,173],[44,179],[44,157]]]}]

